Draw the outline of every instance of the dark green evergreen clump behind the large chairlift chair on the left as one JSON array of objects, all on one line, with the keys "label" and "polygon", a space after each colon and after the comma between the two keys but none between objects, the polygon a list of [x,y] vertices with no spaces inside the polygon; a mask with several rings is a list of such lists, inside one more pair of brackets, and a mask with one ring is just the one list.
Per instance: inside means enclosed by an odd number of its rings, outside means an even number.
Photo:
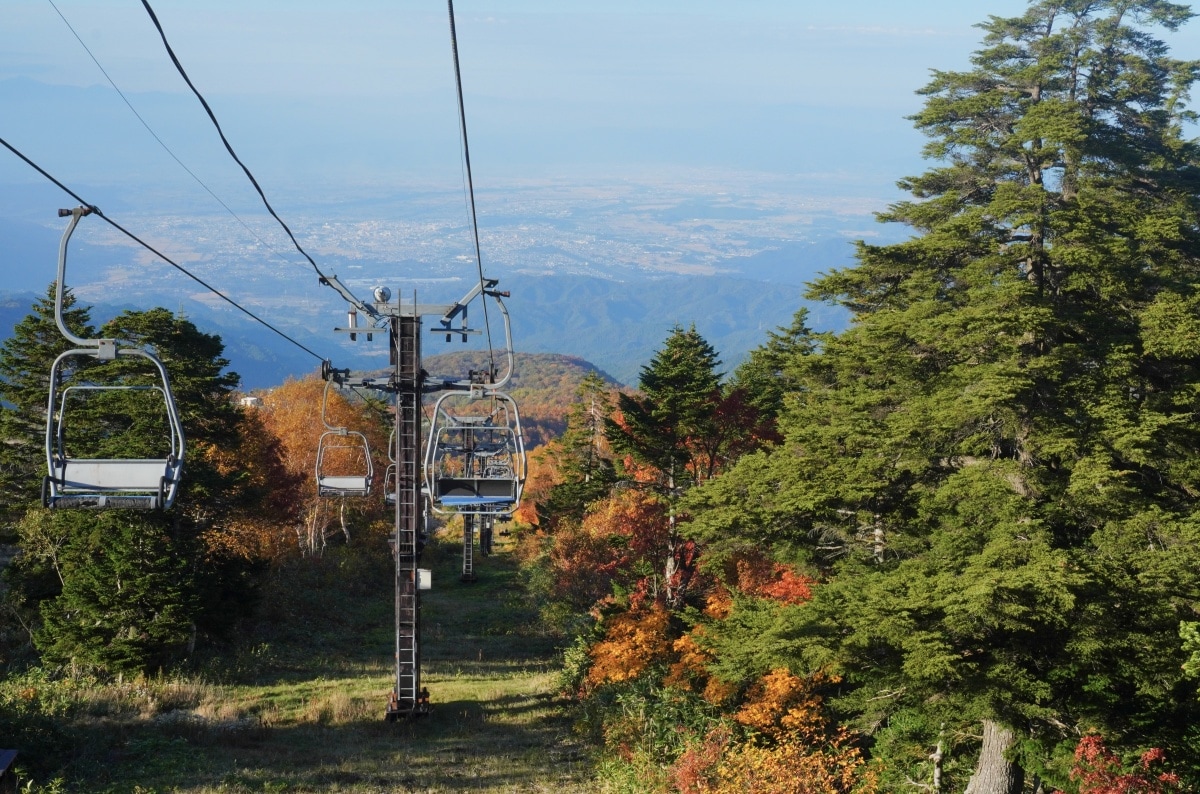
[{"label": "dark green evergreen clump behind the large chairlift chair on the left", "polygon": [[[86,309],[72,309],[72,317],[68,321],[83,326]],[[48,349],[38,354],[44,367],[23,360],[28,350],[40,350],[29,343],[6,347],[0,366],[5,393],[13,395],[10,446],[38,451],[26,477],[40,482],[55,351],[53,299],[35,307],[22,327],[30,329],[29,338],[44,341]],[[80,330],[80,336],[97,336]],[[6,571],[6,600],[26,621],[42,618],[34,640],[48,661],[108,673],[154,669],[185,652],[198,631],[227,630],[252,603],[253,565],[232,553],[218,535],[230,522],[245,521],[265,493],[247,476],[247,467],[222,458],[238,449],[241,414],[232,402],[238,375],[224,372],[228,361],[220,337],[166,309],[125,312],[98,336],[149,345],[163,361],[187,437],[184,488],[175,509],[166,513],[26,507],[17,522],[24,554]],[[80,361],[88,381],[160,385],[157,371],[140,357]],[[77,367],[65,379],[74,383],[82,374]],[[84,398],[68,405],[65,421],[72,449],[113,457],[163,455],[166,413],[157,391],[80,393]]]}]

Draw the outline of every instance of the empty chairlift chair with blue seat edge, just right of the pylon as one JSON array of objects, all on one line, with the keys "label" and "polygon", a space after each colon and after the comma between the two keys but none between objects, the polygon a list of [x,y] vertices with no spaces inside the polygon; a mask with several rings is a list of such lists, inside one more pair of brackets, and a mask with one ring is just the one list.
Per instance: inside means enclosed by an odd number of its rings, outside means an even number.
[{"label": "empty chairlift chair with blue seat edge, just right of the pylon", "polygon": [[509,516],[521,501],[526,477],[521,416],[511,397],[486,391],[487,415],[452,414],[454,399],[476,395],[446,392],[433,408],[425,453],[425,487],[433,512]]}]

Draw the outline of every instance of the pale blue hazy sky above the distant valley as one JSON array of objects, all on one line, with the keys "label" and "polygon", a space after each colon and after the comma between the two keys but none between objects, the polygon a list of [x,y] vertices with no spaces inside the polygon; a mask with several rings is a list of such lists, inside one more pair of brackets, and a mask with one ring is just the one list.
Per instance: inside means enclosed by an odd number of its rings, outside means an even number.
[{"label": "pale blue hazy sky above the distant valley", "polygon": [[[138,0],[4,0],[0,136],[76,179],[144,180],[157,151],[55,5],[185,162],[223,152]],[[440,0],[158,0],[239,152],[275,185],[460,172]],[[886,194],[922,169],[905,115],[930,68],[967,66],[1022,0],[460,0],[484,185],[733,169]],[[1200,55],[1200,23],[1172,36]],[[90,90],[83,91],[83,89]],[[2,108],[4,106],[0,106]],[[85,136],[79,136],[85,131]],[[67,143],[68,142],[68,143]],[[25,167],[0,157],[0,182]],[[221,172],[211,179],[230,181]],[[830,187],[833,186],[833,187]],[[840,186],[840,187],[839,187]]]}]

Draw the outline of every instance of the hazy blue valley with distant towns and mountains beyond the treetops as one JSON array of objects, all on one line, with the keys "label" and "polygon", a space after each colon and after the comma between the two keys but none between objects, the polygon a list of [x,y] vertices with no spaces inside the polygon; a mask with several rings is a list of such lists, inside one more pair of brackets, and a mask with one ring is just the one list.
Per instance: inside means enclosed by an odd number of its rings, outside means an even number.
[{"label": "hazy blue valley with distant towns and mountains beyond the treetops", "polygon": [[[6,333],[54,278],[62,225],[53,210],[70,203],[46,188],[28,192],[25,200],[18,194],[5,191],[0,213]],[[421,302],[450,302],[476,278],[461,192],[392,190],[360,200],[287,194],[286,201],[281,215],[301,245],[324,272],[364,299],[373,285],[386,284],[406,300],[415,294]],[[786,180],[745,174],[688,184],[665,178],[516,184],[481,191],[478,204],[484,270],[511,293],[515,348],[578,356],[623,383],[636,381],[641,363],[676,324],[695,324],[732,368],[767,330],[790,321],[804,303],[805,282],[852,261],[853,240],[899,234],[874,222],[878,200],[804,198]],[[169,213],[101,209],[338,366],[371,368],[385,360],[382,337],[350,343],[331,332],[344,325],[343,302],[318,284],[263,211],[226,211],[212,200],[180,211],[178,198],[164,205],[173,207]],[[246,387],[318,363],[98,218],[85,221],[73,237],[67,281],[97,318],[161,305],[221,333]],[[844,324],[834,307],[810,312],[818,329]],[[492,325],[500,345],[503,330],[496,319]],[[426,353],[457,349],[462,345],[444,347],[431,336]]]}]

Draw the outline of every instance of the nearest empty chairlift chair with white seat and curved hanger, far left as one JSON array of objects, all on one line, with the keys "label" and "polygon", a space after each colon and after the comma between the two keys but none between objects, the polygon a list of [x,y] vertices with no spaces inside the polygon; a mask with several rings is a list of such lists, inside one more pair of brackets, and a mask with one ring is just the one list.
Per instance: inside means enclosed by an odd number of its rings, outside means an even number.
[{"label": "nearest empty chairlift chair with white seat and curved hanger, far left", "polygon": [[[90,207],[59,210],[60,217],[71,216],[59,246],[59,272],[54,300],[54,319],[59,331],[76,349],[67,350],[50,367],[50,390],[46,410],[46,465],[42,480],[42,504],[47,507],[130,507],[166,510],[175,501],[184,475],[184,427],[179,420],[175,398],[167,369],[156,355],[138,348],[121,347],[116,339],[85,339],[72,333],[62,319],[66,282],[67,241],[79,218],[91,213]],[[128,383],[64,385],[65,366],[73,359],[90,357],[115,361],[119,357],[145,359],[154,365],[156,385]],[[72,395],[88,392],[157,391],[166,413],[163,452],[155,457],[98,457],[73,455],[67,447],[67,401]]]}]

